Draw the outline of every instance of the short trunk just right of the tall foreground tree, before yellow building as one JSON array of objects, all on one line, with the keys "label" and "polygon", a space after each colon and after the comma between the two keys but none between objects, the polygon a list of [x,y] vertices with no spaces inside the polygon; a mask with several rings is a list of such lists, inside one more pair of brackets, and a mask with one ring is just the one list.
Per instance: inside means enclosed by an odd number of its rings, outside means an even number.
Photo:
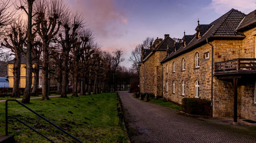
[{"label": "short trunk just right of the tall foreground tree, before yellow building", "polygon": [[33,69],[34,73],[34,81],[33,81],[33,89],[32,95],[38,96],[38,85],[39,85],[39,61],[34,61],[35,67]]}]

